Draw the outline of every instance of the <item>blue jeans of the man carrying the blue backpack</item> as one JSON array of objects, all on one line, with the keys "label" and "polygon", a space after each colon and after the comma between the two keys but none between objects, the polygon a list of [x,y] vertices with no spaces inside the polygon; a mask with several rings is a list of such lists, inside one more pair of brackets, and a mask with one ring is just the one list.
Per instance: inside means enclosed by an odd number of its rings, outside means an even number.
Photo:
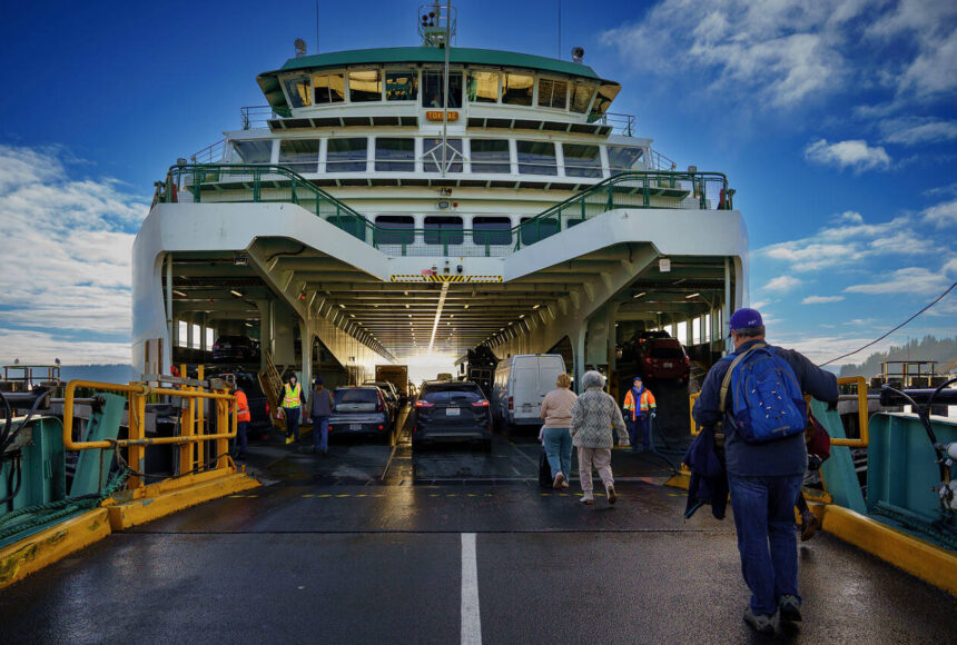
[{"label": "blue jeans of the man carrying the blue backpack", "polygon": [[773,615],[778,598],[785,595],[801,601],[795,499],[802,480],[802,475],[728,475],[741,573],[751,589],[754,614]]}]

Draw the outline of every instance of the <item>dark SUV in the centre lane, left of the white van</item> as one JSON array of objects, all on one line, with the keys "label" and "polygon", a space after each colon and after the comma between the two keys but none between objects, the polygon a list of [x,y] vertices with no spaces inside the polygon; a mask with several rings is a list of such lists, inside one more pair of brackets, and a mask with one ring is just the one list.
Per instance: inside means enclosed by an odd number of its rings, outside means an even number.
[{"label": "dark SUV in the centre lane, left of the white van", "polygon": [[413,450],[426,441],[478,441],[492,449],[489,399],[474,383],[426,383],[412,410]]}]

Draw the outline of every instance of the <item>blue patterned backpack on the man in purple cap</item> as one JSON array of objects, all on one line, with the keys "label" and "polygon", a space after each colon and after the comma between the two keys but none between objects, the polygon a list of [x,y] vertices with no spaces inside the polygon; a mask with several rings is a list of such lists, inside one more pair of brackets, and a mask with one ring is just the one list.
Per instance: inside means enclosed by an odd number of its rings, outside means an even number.
[{"label": "blue patterned backpack on the man in purple cap", "polygon": [[737,356],[721,383],[720,410],[724,418],[728,390],[734,431],[748,444],[763,444],[805,431],[807,405],[795,370],[768,348],[756,344]]}]

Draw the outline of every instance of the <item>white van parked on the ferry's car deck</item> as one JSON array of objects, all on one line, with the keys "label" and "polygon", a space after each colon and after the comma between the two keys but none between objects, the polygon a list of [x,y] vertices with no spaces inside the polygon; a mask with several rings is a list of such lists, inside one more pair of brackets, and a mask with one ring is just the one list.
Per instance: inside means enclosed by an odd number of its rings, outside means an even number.
[{"label": "white van parked on the ferry's car deck", "polygon": [[492,386],[492,415],[500,427],[542,425],[542,399],[565,371],[559,354],[520,354],[502,360]]}]

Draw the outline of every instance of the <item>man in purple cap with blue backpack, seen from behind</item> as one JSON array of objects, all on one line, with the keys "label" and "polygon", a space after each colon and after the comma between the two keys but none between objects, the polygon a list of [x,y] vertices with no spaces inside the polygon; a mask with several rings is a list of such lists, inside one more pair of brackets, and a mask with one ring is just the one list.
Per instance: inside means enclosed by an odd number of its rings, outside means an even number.
[{"label": "man in purple cap with blue backpack, seen from behind", "polygon": [[744,621],[772,634],[778,614],[800,621],[795,500],[808,467],[803,393],[838,400],[837,378],[792,349],[764,343],[754,309],[729,321],[733,354],[714,364],[692,416],[723,453],[741,570],[751,589]]}]

